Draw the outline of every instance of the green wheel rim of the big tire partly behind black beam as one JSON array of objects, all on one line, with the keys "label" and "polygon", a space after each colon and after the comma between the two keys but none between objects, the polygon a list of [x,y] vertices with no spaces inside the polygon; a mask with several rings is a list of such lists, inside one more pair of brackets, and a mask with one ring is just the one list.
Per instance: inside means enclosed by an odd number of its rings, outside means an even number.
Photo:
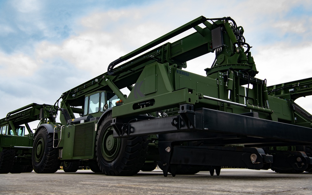
[{"label": "green wheel rim of the big tire partly behind black beam", "polygon": [[112,161],[120,149],[120,138],[114,138],[114,128],[109,126],[105,129],[101,140],[101,152],[105,160]]}]

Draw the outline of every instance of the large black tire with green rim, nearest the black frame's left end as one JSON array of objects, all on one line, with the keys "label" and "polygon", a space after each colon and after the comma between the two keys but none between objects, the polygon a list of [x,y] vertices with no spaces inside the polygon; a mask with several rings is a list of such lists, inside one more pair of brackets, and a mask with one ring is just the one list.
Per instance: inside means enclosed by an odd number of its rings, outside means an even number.
[{"label": "large black tire with green rim, nearest the black frame's left end", "polygon": [[147,137],[114,138],[111,113],[102,121],[96,138],[96,160],[105,175],[138,173],[148,150]]}]

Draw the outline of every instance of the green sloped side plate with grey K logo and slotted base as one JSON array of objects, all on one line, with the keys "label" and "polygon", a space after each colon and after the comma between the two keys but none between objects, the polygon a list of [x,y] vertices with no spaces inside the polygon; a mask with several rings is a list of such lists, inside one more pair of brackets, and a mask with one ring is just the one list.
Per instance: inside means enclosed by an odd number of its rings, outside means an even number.
[{"label": "green sloped side plate with grey K logo and slotted base", "polygon": [[[153,74],[154,71],[152,71],[153,75],[148,76],[148,80],[146,80],[146,75],[150,74],[152,67],[155,67],[155,74]],[[157,62],[151,66],[145,67],[133,90],[130,92],[127,100],[125,101],[125,104],[113,108],[113,117],[144,114],[162,109],[178,107],[179,104],[183,103],[195,104],[198,102],[198,96],[193,93],[196,88],[196,84],[191,83],[191,85],[194,85],[192,88],[180,87],[181,90],[178,89],[174,91],[170,76],[167,72],[168,69],[166,67],[168,67],[168,64],[160,64]],[[187,72],[183,72],[187,74]],[[175,75],[176,73],[175,71],[172,71],[169,74]],[[154,90],[154,88],[152,90],[149,89],[149,92],[154,93],[145,93],[145,86],[150,86],[151,82],[149,81],[152,80],[155,80],[155,85],[154,83],[152,85],[155,86],[156,90]],[[187,80],[189,80],[189,78],[187,78]],[[146,102],[150,103],[145,104]],[[142,104],[144,106],[140,106]]]}]

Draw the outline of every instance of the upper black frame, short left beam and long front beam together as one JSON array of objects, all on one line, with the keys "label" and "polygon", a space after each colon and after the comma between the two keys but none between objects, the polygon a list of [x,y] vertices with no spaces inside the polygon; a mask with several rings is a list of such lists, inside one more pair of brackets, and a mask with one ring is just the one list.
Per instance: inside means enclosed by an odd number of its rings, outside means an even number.
[{"label": "upper black frame, short left beam and long front beam together", "polygon": [[[119,119],[114,119],[114,121],[117,124]],[[270,143],[279,144],[283,142],[285,144],[312,144],[311,128],[205,108],[195,112],[186,111],[177,116],[127,123],[123,126],[129,129],[128,134],[114,132],[114,137],[181,132],[181,136],[185,137],[185,140],[189,140],[209,138],[205,132],[211,132],[242,137],[249,144],[259,143],[261,139],[270,139]],[[183,135],[182,132],[186,132],[186,134]],[[182,139],[182,137],[175,134],[172,140]],[[226,144],[226,141],[223,141],[223,144]]]}]

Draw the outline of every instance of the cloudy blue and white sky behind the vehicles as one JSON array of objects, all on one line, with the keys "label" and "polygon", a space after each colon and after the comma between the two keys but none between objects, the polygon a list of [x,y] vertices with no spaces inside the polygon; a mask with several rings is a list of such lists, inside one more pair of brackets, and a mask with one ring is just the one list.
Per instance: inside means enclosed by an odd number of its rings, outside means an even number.
[{"label": "cloudy blue and white sky behind the vehicles", "polygon": [[[111,61],[199,17],[232,17],[268,85],[311,77],[312,1],[0,1],[0,118],[107,71]],[[214,54],[188,62],[205,75]],[[312,113],[312,98],[296,101]]]}]

